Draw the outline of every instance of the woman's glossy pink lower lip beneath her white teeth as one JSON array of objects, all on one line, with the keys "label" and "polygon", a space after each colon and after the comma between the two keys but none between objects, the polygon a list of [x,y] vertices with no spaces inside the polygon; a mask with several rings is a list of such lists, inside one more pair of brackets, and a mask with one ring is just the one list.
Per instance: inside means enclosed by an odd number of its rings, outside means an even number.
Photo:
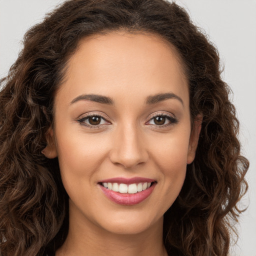
[{"label": "woman's glossy pink lower lip beneath her white teeth", "polygon": [[155,185],[156,185],[156,182],[154,182],[147,189],[142,190],[141,192],[136,192],[134,194],[115,192],[113,190],[105,188],[102,185],[99,185],[99,186],[103,191],[103,193],[105,194],[105,196],[109,198],[111,201],[118,204],[123,204],[123,205],[134,205],[145,200],[152,193]]}]

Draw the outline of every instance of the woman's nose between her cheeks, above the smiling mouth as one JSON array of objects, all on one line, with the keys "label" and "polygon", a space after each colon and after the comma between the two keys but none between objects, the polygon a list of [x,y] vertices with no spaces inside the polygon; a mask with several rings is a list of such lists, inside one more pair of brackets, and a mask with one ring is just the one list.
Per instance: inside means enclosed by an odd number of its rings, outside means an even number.
[{"label": "woman's nose between her cheeks, above the smiling mouth", "polygon": [[118,127],[112,138],[111,162],[129,169],[146,162],[147,159],[146,143],[136,125]]}]

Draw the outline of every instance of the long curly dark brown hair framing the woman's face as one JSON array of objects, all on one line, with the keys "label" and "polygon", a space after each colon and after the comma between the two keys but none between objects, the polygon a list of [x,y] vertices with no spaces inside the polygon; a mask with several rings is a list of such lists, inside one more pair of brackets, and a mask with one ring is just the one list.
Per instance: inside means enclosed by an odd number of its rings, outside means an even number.
[{"label": "long curly dark brown hair framing the woman's face", "polygon": [[41,153],[54,93],[81,38],[120,29],[154,33],[173,45],[189,83],[191,119],[203,116],[195,159],[164,214],[165,248],[171,255],[227,255],[248,160],[240,154],[239,122],[216,48],[167,0],[67,0],[26,32],[0,80],[1,256],[39,256],[65,240],[68,196],[57,158]]}]

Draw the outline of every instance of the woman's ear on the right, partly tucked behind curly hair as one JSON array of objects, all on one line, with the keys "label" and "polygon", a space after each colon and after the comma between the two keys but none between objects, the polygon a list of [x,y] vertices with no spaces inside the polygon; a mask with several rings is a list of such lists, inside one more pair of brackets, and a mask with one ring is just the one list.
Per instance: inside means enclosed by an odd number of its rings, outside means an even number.
[{"label": "woman's ear on the right, partly tucked behind curly hair", "polygon": [[196,118],[193,121],[191,134],[189,138],[189,145],[188,145],[188,152],[187,152],[187,159],[186,159],[187,164],[190,164],[194,160],[198,139],[199,139],[199,134],[201,131],[201,124],[202,124],[202,115],[197,114]]}]

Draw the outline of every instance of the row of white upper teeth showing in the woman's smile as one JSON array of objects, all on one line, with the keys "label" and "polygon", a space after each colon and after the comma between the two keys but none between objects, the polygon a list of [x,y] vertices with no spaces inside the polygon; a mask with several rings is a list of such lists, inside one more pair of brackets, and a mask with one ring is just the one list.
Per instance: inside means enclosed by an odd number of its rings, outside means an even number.
[{"label": "row of white upper teeth showing in the woman's smile", "polygon": [[136,192],[140,192],[142,190],[147,189],[150,185],[151,182],[144,182],[144,183],[133,183],[133,184],[124,184],[124,183],[110,183],[110,182],[103,182],[102,185],[105,188],[108,188],[110,190],[113,190],[115,192],[119,193],[129,193],[129,194],[134,194]]}]

